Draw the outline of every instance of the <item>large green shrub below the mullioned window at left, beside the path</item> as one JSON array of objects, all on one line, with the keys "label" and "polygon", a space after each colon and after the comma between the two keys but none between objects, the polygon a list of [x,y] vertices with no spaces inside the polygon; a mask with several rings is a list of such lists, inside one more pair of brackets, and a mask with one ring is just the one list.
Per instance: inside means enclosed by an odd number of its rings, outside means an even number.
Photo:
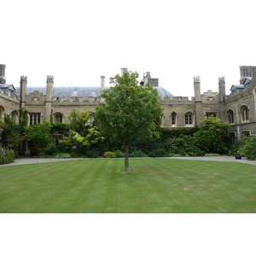
[{"label": "large green shrub below the mullioned window at left, beside the path", "polygon": [[52,147],[53,138],[51,136],[52,126],[49,122],[44,121],[44,124],[36,124],[25,126],[24,138],[31,143],[32,155],[44,155],[44,148]]}]

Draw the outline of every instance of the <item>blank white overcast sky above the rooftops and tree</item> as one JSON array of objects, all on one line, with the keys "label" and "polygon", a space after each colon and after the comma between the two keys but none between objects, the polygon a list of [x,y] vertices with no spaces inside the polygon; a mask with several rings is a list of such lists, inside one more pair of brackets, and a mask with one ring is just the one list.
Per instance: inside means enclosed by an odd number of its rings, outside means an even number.
[{"label": "blank white overcast sky above the rooftops and tree", "polygon": [[255,66],[254,0],[3,0],[0,63],[6,82],[45,86],[101,84],[121,67],[151,72],[175,96],[226,93],[239,84],[239,66]]}]

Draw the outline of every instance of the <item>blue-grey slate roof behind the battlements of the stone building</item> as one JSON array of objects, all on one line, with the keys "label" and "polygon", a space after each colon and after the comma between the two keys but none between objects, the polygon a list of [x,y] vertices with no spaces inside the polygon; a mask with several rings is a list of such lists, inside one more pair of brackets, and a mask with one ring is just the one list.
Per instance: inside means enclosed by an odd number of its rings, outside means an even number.
[{"label": "blue-grey slate roof behind the battlements of the stone building", "polygon": [[[108,89],[109,86],[105,86],[105,89]],[[154,87],[158,90],[158,95],[161,100],[164,100],[165,97],[173,98],[173,95],[163,87]],[[26,94],[29,95],[34,91],[46,95],[46,87],[27,87]],[[20,93],[20,88],[16,90]],[[84,97],[86,100],[88,96],[100,97],[101,96],[101,87],[100,86],[54,86],[53,87],[53,96],[54,97]]]}]

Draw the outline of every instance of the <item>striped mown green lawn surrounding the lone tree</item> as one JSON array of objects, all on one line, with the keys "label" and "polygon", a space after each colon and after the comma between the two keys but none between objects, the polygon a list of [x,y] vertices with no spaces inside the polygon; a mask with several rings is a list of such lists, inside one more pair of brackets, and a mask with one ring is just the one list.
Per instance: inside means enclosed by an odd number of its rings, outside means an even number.
[{"label": "striped mown green lawn surrounding the lone tree", "polygon": [[1,166],[0,212],[256,212],[256,166],[123,159]]}]

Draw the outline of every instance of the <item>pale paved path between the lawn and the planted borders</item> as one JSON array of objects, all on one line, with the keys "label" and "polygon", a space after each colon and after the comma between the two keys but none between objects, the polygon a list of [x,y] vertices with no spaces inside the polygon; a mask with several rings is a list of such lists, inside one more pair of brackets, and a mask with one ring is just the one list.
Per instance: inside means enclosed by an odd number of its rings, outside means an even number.
[{"label": "pale paved path between the lawn and the planted borders", "polygon": [[[236,162],[256,166],[256,160],[247,160],[245,157],[241,160],[236,160],[234,156],[220,155],[220,156],[195,156],[195,157],[170,157],[168,159],[181,159],[181,160],[211,160],[211,161],[224,161],[224,162]],[[56,159],[56,158],[19,158],[16,159],[14,163],[0,166],[15,166],[15,165],[26,165],[26,164],[37,164],[46,162],[58,162],[67,160],[84,160],[84,158],[66,158],[66,159]]]}]

